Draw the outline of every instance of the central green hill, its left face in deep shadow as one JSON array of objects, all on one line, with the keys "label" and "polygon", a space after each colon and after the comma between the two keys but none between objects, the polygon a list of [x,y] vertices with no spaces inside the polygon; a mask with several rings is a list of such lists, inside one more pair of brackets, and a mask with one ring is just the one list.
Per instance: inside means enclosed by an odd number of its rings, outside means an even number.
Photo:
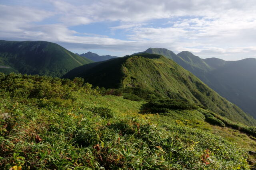
[{"label": "central green hill, its left face in deep shadow", "polygon": [[186,99],[203,105],[233,121],[256,124],[252,117],[208,88],[192,73],[161,55],[139,54],[113,59],[82,73],[69,74],[68,78],[77,76],[94,86],[105,88],[146,88],[164,97]]}]

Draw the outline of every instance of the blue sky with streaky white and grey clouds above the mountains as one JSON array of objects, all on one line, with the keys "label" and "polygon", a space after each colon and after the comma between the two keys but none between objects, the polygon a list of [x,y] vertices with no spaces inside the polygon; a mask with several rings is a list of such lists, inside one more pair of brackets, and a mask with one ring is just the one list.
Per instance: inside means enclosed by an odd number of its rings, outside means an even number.
[{"label": "blue sky with streaky white and grey clouds above the mountains", "polygon": [[255,0],[0,0],[0,39],[122,57],[150,47],[256,58]]}]

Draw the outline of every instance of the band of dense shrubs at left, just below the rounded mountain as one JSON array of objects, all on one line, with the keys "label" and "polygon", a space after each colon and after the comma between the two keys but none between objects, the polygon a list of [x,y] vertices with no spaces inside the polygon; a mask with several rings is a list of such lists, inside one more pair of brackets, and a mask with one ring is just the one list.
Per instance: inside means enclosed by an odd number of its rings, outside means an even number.
[{"label": "band of dense shrubs at left, just below the rounded mountain", "polygon": [[[61,98],[75,100],[72,96],[74,92],[98,94],[97,89],[93,89],[91,84],[85,83],[84,86],[81,86],[82,78],[75,78],[71,81],[38,75],[1,74],[0,82],[0,89],[5,92],[5,95],[8,92],[8,95],[12,98]],[[0,95],[2,96],[2,94]]]}]

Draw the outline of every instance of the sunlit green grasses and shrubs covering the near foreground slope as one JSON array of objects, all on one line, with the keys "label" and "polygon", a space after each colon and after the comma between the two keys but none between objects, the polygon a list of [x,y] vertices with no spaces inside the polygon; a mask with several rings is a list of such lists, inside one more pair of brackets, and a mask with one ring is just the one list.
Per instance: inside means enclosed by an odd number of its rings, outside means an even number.
[{"label": "sunlit green grasses and shrubs covering the near foreground slope", "polygon": [[212,134],[210,111],[185,101],[151,100],[166,114],[140,114],[147,102],[81,78],[22,74],[0,74],[0,90],[3,169],[249,169],[246,150]]}]

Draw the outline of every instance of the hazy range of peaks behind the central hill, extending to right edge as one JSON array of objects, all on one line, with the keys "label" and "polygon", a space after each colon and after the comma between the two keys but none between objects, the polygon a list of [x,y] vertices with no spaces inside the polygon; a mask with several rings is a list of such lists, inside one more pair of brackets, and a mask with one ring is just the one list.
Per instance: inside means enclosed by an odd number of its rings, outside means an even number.
[{"label": "hazy range of peaks behind the central hill, extending to right edge", "polygon": [[240,61],[201,59],[188,51],[176,55],[162,48],[149,48],[140,53],[159,54],[172,59],[218,94],[256,118],[256,59],[248,58]]}]

